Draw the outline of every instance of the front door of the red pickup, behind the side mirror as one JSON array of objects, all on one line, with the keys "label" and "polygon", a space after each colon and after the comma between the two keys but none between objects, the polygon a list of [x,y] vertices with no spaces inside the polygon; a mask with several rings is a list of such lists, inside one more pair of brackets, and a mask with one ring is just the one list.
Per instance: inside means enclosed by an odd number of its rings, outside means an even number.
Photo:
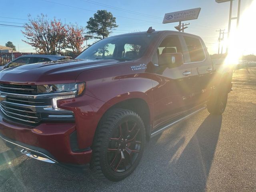
[{"label": "front door of the red pickup, behind the side mirror", "polygon": [[161,66],[158,62],[161,54],[183,53],[180,36],[169,35],[158,43],[153,56],[155,76],[154,89],[154,129],[167,124],[178,117],[191,105],[191,66],[182,64],[178,67]]}]

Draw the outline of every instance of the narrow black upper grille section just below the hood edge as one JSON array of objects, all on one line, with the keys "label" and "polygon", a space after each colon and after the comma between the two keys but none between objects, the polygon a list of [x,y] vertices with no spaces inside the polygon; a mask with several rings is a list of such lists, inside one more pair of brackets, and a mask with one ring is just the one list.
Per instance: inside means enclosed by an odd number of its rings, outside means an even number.
[{"label": "narrow black upper grille section just below the hood edge", "polygon": [[37,94],[37,86],[22,84],[0,84],[0,91],[16,94]]}]

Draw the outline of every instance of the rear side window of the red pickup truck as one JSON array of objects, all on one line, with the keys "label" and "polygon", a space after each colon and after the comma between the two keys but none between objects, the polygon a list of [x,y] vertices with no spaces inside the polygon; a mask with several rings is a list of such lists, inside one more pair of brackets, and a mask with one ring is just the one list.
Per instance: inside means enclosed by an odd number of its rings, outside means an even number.
[{"label": "rear side window of the red pickup truck", "polygon": [[198,38],[184,37],[191,62],[200,62],[205,59],[204,49]]}]

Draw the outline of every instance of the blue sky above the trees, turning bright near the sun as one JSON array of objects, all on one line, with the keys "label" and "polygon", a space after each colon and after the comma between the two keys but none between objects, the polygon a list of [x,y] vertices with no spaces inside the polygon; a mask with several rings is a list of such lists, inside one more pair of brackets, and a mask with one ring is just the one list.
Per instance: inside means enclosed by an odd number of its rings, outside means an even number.
[{"label": "blue sky above the trees, turning bright near the sun", "polygon": [[[241,1],[241,15],[253,1]],[[146,31],[150,26],[155,30],[175,30],[174,26],[178,23],[162,24],[165,13],[200,7],[202,9],[197,20],[184,22],[190,23],[185,32],[201,36],[209,53],[215,54],[218,53],[219,37],[216,30],[228,31],[229,5],[230,2],[218,4],[215,0],[0,0],[0,24],[22,26],[28,22],[28,14],[36,18],[43,13],[50,19],[55,17],[66,24],[77,23],[85,27],[86,22],[97,10],[107,10],[116,17],[118,24],[118,28],[110,34],[113,36]],[[238,0],[234,0],[233,17],[237,15],[237,6]],[[231,31],[235,28],[236,20],[233,20]],[[20,52],[35,52],[32,46],[22,42],[25,38],[21,30],[20,27],[0,25],[0,45],[5,46],[6,42],[11,41]],[[227,38],[227,34],[224,38]],[[89,40],[88,43],[94,41]],[[243,54],[256,54],[256,49],[244,48]]]}]

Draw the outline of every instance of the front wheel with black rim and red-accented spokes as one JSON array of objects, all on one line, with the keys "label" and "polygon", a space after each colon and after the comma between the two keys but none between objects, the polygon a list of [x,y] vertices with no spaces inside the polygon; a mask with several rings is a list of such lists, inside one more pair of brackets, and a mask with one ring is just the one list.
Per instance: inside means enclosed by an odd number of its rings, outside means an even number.
[{"label": "front wheel with black rim and red-accented spokes", "polygon": [[97,128],[90,166],[99,178],[120,181],[138,166],[145,142],[144,123],[138,114],[110,110]]}]

